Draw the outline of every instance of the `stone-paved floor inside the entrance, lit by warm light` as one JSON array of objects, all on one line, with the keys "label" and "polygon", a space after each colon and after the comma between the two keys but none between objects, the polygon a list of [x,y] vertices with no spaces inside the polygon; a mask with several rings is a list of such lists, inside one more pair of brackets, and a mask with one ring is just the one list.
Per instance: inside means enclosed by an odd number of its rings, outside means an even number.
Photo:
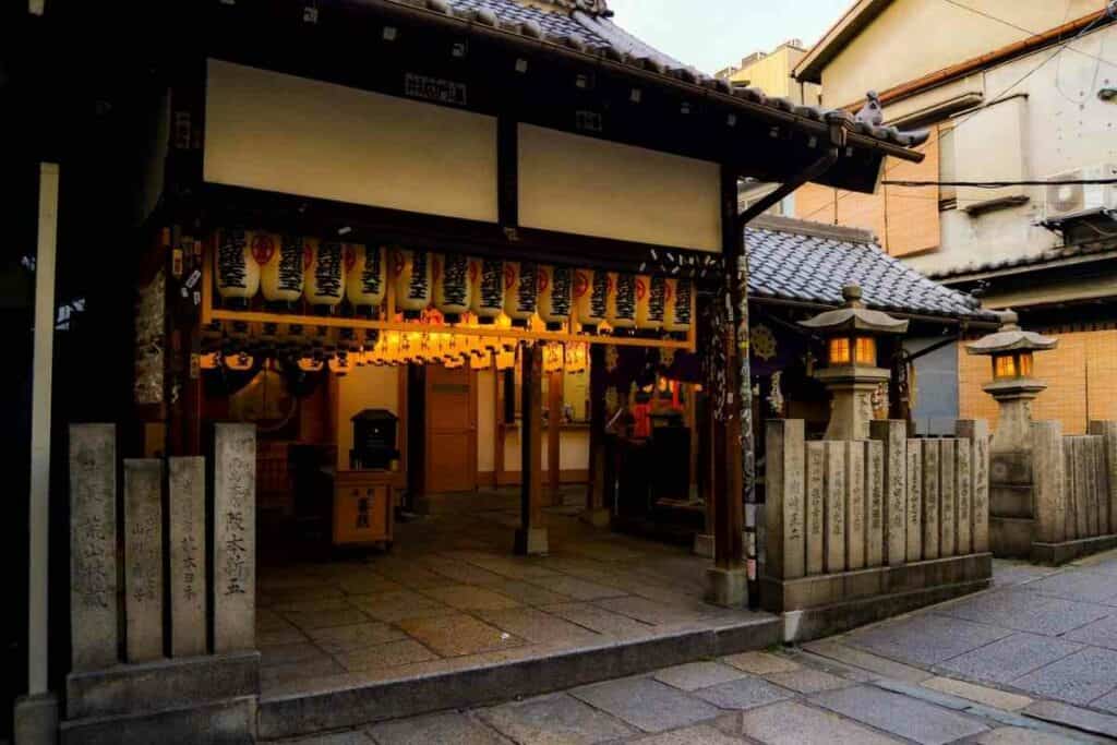
[{"label": "stone-paved floor inside the entrance, lit by warm light", "polygon": [[565,496],[546,557],[512,554],[505,490],[433,500],[389,554],[261,566],[264,699],[762,618],[703,601],[708,560],[583,525],[584,488]]}]

